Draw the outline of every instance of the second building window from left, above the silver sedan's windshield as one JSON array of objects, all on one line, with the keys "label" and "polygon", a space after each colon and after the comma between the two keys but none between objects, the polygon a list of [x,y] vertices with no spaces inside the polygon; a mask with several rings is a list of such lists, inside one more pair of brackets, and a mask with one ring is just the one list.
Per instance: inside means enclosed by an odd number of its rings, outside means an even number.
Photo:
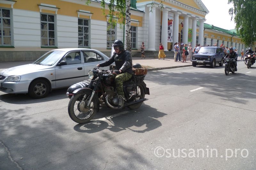
[{"label": "second building window from left, above the silver sedan's windshield", "polygon": [[41,46],[56,46],[55,16],[41,14]]}]

